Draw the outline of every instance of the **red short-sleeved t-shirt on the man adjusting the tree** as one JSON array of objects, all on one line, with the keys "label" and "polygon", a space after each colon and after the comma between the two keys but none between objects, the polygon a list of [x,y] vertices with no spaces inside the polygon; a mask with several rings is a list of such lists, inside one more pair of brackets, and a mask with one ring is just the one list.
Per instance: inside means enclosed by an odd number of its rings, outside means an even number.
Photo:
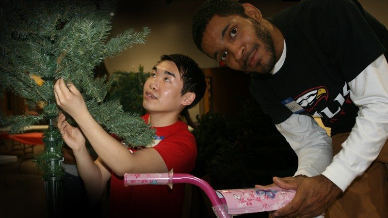
[{"label": "red short-sleeved t-shirt on the man adjusting the tree", "polygon": [[[149,114],[142,118],[146,121]],[[164,137],[153,147],[162,156],[168,171],[190,173],[195,165],[197,148],[194,136],[181,121],[169,126],[153,127]],[[184,184],[168,186],[124,186],[123,177],[112,172],[110,214],[112,218],[181,218]]]}]

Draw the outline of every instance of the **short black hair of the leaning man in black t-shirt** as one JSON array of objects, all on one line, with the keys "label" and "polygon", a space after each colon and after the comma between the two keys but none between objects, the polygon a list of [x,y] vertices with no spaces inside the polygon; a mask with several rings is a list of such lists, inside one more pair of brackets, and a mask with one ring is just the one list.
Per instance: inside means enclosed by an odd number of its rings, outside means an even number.
[{"label": "short black hair of the leaning man in black t-shirt", "polygon": [[236,0],[207,0],[195,11],[191,30],[195,46],[203,52],[201,44],[203,33],[213,16],[239,15],[248,18],[245,15],[244,7]]}]

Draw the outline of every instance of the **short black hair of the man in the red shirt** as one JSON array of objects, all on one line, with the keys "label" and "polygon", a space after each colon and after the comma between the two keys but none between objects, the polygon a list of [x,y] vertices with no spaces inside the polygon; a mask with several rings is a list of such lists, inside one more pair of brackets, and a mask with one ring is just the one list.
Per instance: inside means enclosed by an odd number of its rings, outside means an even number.
[{"label": "short black hair of the man in the red shirt", "polygon": [[180,78],[183,81],[181,95],[189,92],[195,93],[194,101],[186,106],[183,111],[194,107],[201,100],[206,90],[205,74],[199,68],[198,63],[183,54],[162,55],[160,61],[172,61],[177,65]]}]

